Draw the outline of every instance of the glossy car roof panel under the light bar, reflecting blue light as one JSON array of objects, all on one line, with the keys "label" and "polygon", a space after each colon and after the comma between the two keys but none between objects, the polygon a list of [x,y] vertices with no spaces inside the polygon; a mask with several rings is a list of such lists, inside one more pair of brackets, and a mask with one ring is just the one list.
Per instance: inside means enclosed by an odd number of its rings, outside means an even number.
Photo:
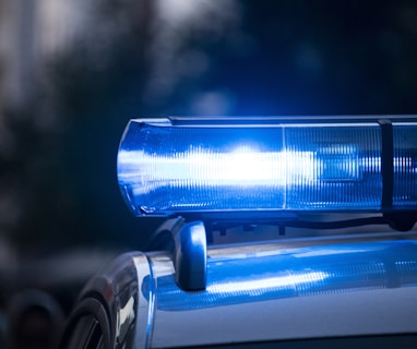
[{"label": "glossy car roof panel under the light bar, reflecting blue light", "polygon": [[250,248],[208,250],[196,292],[178,288],[167,255],[150,256],[152,347],[417,333],[416,241]]}]

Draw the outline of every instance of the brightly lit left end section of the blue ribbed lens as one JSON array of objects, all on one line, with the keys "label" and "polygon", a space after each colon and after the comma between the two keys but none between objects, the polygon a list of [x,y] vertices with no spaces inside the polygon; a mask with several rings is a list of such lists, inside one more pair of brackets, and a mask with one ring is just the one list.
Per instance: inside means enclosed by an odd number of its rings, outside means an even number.
[{"label": "brightly lit left end section of the blue ribbed lens", "polygon": [[278,129],[134,122],[130,128],[138,129],[138,147],[126,149],[122,143],[119,183],[141,210],[255,209],[260,202],[264,208],[283,207],[285,155]]}]

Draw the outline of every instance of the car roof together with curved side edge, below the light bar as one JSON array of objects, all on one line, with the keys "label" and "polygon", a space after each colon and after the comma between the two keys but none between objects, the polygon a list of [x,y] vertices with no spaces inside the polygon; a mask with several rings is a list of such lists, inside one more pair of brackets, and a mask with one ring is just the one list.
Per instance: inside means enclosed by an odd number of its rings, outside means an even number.
[{"label": "car roof together with curved side edge, below the light bar", "polygon": [[80,301],[103,302],[111,348],[417,334],[416,238],[210,246],[201,291],[178,287],[169,252],[134,252],[93,278]]}]

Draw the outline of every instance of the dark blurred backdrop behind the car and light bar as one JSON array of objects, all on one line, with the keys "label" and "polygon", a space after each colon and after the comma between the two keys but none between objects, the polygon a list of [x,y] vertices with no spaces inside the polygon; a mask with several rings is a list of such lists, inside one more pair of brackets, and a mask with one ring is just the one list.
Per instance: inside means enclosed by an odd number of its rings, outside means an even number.
[{"label": "dark blurred backdrop behind the car and light bar", "polygon": [[416,113],[416,93],[415,1],[0,0],[0,347],[22,302],[64,316],[158,226],[119,194],[130,118]]}]

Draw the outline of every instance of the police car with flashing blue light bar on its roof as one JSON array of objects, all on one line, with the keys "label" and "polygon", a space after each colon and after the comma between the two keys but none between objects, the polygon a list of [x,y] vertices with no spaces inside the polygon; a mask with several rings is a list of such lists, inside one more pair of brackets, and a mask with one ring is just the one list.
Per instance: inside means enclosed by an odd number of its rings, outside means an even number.
[{"label": "police car with flashing blue light bar on its roof", "polygon": [[166,220],[62,348],[417,348],[417,118],[131,120],[118,180]]}]

